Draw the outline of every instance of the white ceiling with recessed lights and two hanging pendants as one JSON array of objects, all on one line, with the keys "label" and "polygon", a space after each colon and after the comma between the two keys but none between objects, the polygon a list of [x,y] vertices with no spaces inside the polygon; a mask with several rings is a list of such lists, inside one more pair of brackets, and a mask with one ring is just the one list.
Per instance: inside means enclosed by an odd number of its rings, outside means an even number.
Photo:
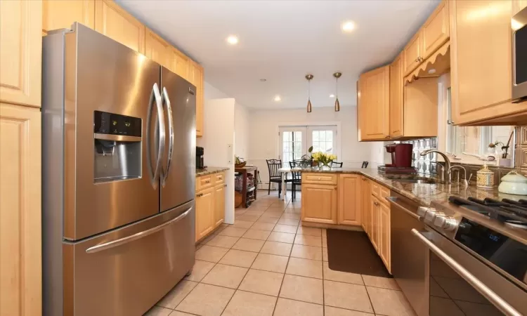
[{"label": "white ceiling with recessed lights and two hanging pendants", "polygon": [[[336,71],[341,106],[356,105],[358,75],[390,62],[439,0],[117,2],[200,62],[209,84],[272,109],[306,107],[308,73],[313,107],[332,106]],[[346,20],[351,33],[341,31]],[[226,43],[230,34],[238,45]]]}]

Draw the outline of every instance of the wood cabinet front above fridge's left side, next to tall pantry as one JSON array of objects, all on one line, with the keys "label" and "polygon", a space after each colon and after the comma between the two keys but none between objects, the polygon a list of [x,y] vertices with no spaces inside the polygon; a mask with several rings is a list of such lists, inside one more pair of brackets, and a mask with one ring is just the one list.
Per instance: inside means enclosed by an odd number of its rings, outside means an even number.
[{"label": "wood cabinet front above fridge's left side, next to tall pantry", "polygon": [[95,28],[95,0],[42,1],[42,31],[69,29],[73,22]]}]

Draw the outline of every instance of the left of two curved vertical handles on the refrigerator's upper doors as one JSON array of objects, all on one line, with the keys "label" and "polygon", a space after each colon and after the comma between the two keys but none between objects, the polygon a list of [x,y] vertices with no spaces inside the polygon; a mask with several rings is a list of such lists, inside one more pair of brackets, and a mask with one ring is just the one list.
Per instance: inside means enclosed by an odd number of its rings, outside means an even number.
[{"label": "left of two curved vertical handles on the refrigerator's upper doors", "polygon": [[[154,101],[156,103],[157,107],[157,128],[159,128],[160,137],[159,137],[159,147],[157,149],[157,157],[156,157],[156,164],[155,164],[155,170],[152,171],[152,160],[150,158],[150,152],[152,152],[152,148],[150,145],[150,120],[152,119],[152,107],[154,105]],[[157,188],[157,177],[160,176],[160,169],[161,169],[161,159],[163,157],[164,153],[164,111],[163,111],[163,105],[162,105],[162,98],[160,89],[157,86],[157,83],[152,86],[152,93],[150,93],[150,101],[148,103],[148,114],[146,117],[146,163],[148,164],[148,176],[150,177],[150,183],[152,184],[152,187],[154,189]]]}]

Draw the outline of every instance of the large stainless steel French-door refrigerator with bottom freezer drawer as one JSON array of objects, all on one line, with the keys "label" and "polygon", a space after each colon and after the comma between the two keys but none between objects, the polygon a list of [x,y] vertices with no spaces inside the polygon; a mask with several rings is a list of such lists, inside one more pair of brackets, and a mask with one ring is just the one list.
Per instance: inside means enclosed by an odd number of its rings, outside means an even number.
[{"label": "large stainless steel French-door refrigerator with bottom freezer drawer", "polygon": [[44,315],[141,315],[194,264],[195,86],[78,23],[42,83]]}]

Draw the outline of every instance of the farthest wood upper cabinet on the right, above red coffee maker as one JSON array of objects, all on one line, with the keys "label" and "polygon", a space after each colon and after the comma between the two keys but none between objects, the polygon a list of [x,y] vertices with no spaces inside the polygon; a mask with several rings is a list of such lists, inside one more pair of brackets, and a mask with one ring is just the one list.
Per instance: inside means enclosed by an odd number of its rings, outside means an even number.
[{"label": "farthest wood upper cabinet on the right, above red coffee maker", "polygon": [[365,72],[358,81],[358,138],[385,140],[390,137],[390,66]]}]

